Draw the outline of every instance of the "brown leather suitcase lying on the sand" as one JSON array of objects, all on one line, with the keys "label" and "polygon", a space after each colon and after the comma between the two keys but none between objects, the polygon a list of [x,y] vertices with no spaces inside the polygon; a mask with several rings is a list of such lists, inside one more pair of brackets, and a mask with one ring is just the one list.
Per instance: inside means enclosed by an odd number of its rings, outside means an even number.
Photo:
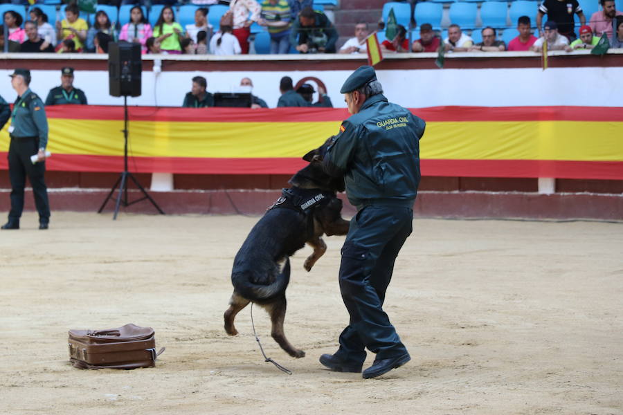
[{"label": "brown leather suitcase lying on the sand", "polygon": [[70,330],[69,360],[80,369],[136,369],[154,367],[154,329],[126,324],[107,330]]}]

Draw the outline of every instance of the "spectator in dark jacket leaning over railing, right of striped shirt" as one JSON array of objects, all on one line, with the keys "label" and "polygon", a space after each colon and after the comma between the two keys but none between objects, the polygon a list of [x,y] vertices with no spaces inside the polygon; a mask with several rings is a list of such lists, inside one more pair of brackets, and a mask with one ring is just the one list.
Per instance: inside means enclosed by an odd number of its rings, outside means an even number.
[{"label": "spectator in dark jacket leaning over railing, right of striped shirt", "polygon": [[290,33],[290,44],[300,53],[335,53],[337,39],[329,18],[311,7],[300,11]]}]

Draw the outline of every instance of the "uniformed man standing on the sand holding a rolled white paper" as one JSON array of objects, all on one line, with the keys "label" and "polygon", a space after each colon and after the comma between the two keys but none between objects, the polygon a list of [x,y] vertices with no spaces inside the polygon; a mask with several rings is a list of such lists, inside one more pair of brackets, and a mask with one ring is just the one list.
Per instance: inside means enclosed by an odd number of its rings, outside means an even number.
[{"label": "uniformed man standing on the sand holding a rolled white paper", "polygon": [[[8,165],[11,181],[11,210],[8,222],[2,229],[19,229],[19,218],[24,210],[24,187],[26,176],[35,194],[35,206],[39,212],[39,229],[48,229],[50,204],[44,180],[46,172],[46,145],[48,144],[48,120],[44,104],[39,96],[30,91],[30,71],[15,69],[9,75],[11,86],[17,92],[17,100],[11,113],[11,137]],[[33,163],[31,156],[37,155]]]}]

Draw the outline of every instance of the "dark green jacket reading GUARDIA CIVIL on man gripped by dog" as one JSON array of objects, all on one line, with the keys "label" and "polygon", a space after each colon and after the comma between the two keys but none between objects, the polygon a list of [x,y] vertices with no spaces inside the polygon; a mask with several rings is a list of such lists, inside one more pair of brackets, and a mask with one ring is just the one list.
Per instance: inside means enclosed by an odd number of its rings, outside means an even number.
[{"label": "dark green jacket reading GUARDIA CIVIL on man gripped by dog", "polygon": [[344,174],[348,200],[357,210],[375,199],[413,204],[419,185],[419,139],[426,123],[383,95],[365,100],[342,122],[327,148],[325,171]]}]

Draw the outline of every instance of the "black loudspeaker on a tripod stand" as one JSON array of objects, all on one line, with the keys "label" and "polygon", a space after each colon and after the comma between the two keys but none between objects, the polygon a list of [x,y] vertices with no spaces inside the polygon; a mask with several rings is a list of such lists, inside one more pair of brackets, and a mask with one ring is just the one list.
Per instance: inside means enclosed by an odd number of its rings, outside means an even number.
[{"label": "black loudspeaker on a tripod stand", "polygon": [[[123,172],[120,174],[116,183],[113,185],[112,189],[98,213],[102,213],[104,210],[106,203],[111,199],[115,190],[118,188],[119,194],[117,195],[117,203],[115,205],[115,213],[113,215],[113,220],[117,219],[117,214],[119,213],[119,208],[121,205],[127,207],[129,205],[133,205],[134,203],[138,203],[140,201],[144,201],[148,199],[152,205],[160,212],[164,214],[163,210],[159,207],[159,205],[151,198],[151,196],[147,193],[147,191],[141,186],[141,183],[138,183],[138,180],[134,177],[134,175],[127,171],[127,97],[138,97],[141,96],[141,72],[143,71],[143,66],[141,63],[141,44],[133,44],[128,42],[118,42],[118,43],[110,43],[108,46],[108,75],[109,75],[109,85],[110,85],[110,95],[114,97],[123,96]],[[135,201],[128,201],[127,198],[127,182],[132,180],[138,190],[143,192],[143,197],[141,199],[137,199]]]}]

